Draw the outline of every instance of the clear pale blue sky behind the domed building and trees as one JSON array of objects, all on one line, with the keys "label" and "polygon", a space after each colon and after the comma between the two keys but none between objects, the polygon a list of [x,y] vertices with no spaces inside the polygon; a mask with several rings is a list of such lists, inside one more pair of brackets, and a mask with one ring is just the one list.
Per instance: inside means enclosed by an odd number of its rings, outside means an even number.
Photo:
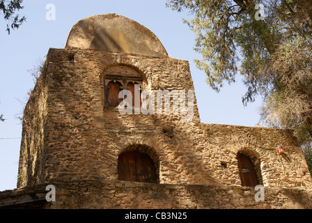
[{"label": "clear pale blue sky behind the domed building and trees", "polygon": [[[56,20],[46,20],[48,3],[56,7]],[[192,15],[166,8],[165,3],[166,0],[24,0],[19,14],[26,16],[26,22],[10,35],[1,15],[0,114],[6,121],[0,123],[0,191],[14,189],[17,183],[22,135],[17,116],[22,115],[27,92],[34,86],[27,70],[43,59],[50,47],[63,48],[72,26],[91,15],[116,13],[137,21],[155,33],[169,56],[189,61],[202,123],[254,126],[259,121],[261,101],[244,107],[242,95],[246,89],[240,81],[224,86],[220,93],[205,84],[205,73],[194,65],[194,59],[200,58],[193,49],[195,35],[182,23],[182,18]]]}]

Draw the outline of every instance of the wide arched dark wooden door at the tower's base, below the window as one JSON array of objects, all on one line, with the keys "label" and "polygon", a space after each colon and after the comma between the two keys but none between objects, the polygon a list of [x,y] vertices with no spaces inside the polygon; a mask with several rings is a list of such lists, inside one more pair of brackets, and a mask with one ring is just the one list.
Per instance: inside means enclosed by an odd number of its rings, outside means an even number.
[{"label": "wide arched dark wooden door at the tower's base, below the window", "polygon": [[157,183],[154,162],[145,153],[122,153],[118,157],[118,180]]}]

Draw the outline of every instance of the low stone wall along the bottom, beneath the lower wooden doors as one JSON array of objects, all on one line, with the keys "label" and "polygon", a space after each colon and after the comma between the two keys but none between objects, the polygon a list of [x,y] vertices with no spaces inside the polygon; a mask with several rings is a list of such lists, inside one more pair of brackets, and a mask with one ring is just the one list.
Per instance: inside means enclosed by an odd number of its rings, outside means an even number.
[{"label": "low stone wall along the bottom, beneath the lower wooden doors", "polygon": [[[0,192],[1,208],[46,209],[306,209],[312,190],[253,187],[173,185],[120,180],[50,182],[55,201],[47,202],[47,184]],[[51,196],[49,195],[51,198]],[[118,217],[121,213],[118,213]],[[117,216],[116,216],[117,217]],[[189,217],[189,219],[192,219]]]}]

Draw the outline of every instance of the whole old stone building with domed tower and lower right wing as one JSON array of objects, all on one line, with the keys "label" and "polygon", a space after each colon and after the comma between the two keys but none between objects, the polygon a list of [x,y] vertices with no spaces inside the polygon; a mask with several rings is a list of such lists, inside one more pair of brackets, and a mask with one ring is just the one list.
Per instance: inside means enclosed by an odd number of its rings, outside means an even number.
[{"label": "whole old stone building with domed tower and lower right wing", "polygon": [[[136,95],[127,113],[123,92]],[[77,22],[47,53],[24,109],[17,189],[0,192],[0,208],[312,208],[291,130],[201,123],[192,92],[188,61],[146,27],[116,14]]]}]

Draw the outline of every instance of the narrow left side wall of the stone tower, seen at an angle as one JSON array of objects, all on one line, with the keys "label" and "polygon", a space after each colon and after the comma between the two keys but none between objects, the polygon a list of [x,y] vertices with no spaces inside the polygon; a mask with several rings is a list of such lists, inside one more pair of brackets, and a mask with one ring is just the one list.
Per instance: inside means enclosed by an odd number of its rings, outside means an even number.
[{"label": "narrow left side wall of the stone tower, seen at an angle", "polygon": [[44,181],[48,95],[47,76],[43,68],[24,109],[17,187]]}]

